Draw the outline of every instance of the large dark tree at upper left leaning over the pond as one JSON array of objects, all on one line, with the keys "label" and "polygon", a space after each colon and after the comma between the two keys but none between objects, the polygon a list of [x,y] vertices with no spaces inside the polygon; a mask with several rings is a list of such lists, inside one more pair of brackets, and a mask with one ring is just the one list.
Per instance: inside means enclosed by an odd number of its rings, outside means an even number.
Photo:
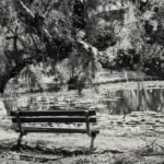
[{"label": "large dark tree at upper left leaning over the pond", "polygon": [[84,10],[81,1],[16,0],[1,4],[4,32],[1,58],[3,61],[7,58],[4,71],[1,70],[1,93],[7,82],[27,65],[42,61],[55,66],[74,55],[74,59],[82,61],[82,70],[86,70],[95,60],[96,48],[91,52],[93,47],[79,35],[84,27],[84,15],[78,13],[79,8]]}]

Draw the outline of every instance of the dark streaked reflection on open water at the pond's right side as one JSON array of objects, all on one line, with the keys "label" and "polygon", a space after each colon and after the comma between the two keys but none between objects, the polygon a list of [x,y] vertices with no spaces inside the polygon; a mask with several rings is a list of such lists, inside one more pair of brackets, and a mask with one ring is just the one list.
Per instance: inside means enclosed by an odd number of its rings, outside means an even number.
[{"label": "dark streaked reflection on open water at the pond's right side", "polygon": [[115,104],[114,114],[164,109],[164,90],[119,90],[116,95],[121,98]]}]

